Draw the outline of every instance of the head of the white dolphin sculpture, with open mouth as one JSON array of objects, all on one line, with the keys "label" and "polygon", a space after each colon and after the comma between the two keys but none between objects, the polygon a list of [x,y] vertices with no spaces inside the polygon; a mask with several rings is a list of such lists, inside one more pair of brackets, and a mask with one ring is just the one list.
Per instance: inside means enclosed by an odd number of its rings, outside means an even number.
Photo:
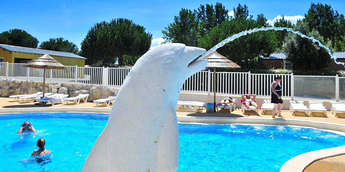
[{"label": "head of the white dolphin sculpture, with open mouth", "polygon": [[[206,52],[205,49],[180,43],[161,44],[139,58],[132,70],[147,70],[149,73],[171,75],[185,81],[191,75],[203,70],[207,60],[195,59]],[[193,63],[191,63],[193,62]]]}]

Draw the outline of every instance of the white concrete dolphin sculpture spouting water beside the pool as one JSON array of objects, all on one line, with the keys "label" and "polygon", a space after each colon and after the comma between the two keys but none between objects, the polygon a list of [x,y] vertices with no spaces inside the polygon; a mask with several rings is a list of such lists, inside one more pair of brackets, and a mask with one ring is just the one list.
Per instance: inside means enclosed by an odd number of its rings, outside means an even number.
[{"label": "white concrete dolphin sculpture spouting water beside the pool", "polygon": [[122,84],[107,126],[88,155],[83,172],[177,171],[176,105],[185,80],[203,70],[205,49],[167,43],[139,58]]}]

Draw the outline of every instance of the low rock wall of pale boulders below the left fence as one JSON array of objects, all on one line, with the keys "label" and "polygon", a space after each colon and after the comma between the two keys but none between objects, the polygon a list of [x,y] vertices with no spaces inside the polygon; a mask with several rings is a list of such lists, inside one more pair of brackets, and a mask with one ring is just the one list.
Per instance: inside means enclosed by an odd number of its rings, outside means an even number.
[{"label": "low rock wall of pale boulders below the left fence", "polygon": [[[41,92],[43,82],[0,79],[0,97],[9,97],[11,95],[33,94]],[[56,88],[58,93],[68,94],[69,97],[75,97],[78,94],[90,94],[88,101],[107,98],[116,95],[118,88],[107,87],[95,84],[66,84],[66,83],[46,83],[45,92],[52,93],[52,89]]]}]

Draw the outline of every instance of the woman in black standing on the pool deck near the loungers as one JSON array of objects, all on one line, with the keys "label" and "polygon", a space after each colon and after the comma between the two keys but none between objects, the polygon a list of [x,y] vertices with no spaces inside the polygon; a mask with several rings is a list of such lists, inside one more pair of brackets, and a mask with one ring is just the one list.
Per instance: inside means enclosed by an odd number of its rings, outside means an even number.
[{"label": "woman in black standing on the pool deck near the loungers", "polygon": [[272,93],[271,93],[271,103],[274,103],[274,108],[272,111],[272,118],[276,118],[276,112],[278,107],[278,117],[284,118],[280,113],[282,112],[283,100],[282,100],[282,86],[280,82],[282,81],[281,76],[277,76],[276,79],[272,82]]}]

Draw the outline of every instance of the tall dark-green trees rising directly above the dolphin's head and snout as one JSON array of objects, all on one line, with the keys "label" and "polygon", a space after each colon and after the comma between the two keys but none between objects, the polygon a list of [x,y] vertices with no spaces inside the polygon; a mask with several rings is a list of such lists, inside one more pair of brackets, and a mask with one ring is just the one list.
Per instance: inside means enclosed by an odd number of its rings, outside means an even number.
[{"label": "tall dark-green trees rising directly above the dolphin's head and snout", "polygon": [[163,38],[166,42],[197,46],[200,37],[228,18],[228,10],[219,2],[215,6],[200,4],[193,11],[182,8],[174,22],[162,30]]}]

